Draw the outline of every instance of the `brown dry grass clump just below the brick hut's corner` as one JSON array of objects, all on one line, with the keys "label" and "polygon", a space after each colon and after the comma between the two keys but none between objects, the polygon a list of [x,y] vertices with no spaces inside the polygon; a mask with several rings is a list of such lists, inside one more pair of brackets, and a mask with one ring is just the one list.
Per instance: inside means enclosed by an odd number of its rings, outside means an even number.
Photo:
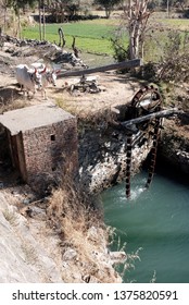
[{"label": "brown dry grass clump just below the brick hut's corner", "polygon": [[87,203],[86,195],[80,194],[73,185],[64,185],[64,188],[54,191],[48,208],[48,216],[54,222],[54,227],[60,227],[64,242],[79,247],[80,241],[87,230],[96,223],[100,225],[98,212]]}]

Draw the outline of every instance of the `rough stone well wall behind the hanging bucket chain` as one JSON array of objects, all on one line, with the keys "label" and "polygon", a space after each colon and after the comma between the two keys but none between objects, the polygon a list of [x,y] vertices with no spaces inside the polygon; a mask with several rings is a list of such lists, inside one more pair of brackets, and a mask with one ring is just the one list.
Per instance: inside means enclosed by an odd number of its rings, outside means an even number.
[{"label": "rough stone well wall behind the hanging bucket chain", "polygon": [[[126,139],[124,132],[80,124],[79,173],[80,184],[85,190],[101,192],[125,178]],[[151,138],[144,137],[144,134],[135,135],[134,142],[133,174],[146,160],[152,144]]]}]

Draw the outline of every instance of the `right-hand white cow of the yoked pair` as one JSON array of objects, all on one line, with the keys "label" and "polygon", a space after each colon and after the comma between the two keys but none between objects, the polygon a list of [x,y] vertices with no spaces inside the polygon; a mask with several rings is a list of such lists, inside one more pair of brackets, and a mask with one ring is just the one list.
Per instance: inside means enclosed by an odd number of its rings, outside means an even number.
[{"label": "right-hand white cow of the yoked pair", "polygon": [[41,93],[43,94],[43,98],[47,99],[46,88],[49,84],[52,84],[54,87],[56,86],[56,77],[60,70],[50,70],[43,63],[35,62],[32,63],[32,66],[37,69],[38,73],[41,75]]}]

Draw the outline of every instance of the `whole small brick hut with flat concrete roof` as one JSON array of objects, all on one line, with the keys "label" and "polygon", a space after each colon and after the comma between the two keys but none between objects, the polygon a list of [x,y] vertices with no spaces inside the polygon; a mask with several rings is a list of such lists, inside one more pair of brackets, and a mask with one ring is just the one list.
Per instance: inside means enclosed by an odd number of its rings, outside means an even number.
[{"label": "whole small brick hut with flat concrete roof", "polygon": [[12,164],[24,182],[43,192],[62,174],[78,171],[76,118],[52,102],[0,115],[8,135]]}]

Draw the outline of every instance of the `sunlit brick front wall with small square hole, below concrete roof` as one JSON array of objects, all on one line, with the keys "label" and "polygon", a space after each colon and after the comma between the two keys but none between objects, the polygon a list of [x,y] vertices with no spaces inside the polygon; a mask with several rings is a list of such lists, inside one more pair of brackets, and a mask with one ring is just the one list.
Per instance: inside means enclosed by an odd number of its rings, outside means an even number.
[{"label": "sunlit brick front wall with small square hole, below concrete roof", "polygon": [[43,192],[61,182],[62,174],[78,170],[77,122],[70,118],[59,123],[23,133],[26,182]]}]

